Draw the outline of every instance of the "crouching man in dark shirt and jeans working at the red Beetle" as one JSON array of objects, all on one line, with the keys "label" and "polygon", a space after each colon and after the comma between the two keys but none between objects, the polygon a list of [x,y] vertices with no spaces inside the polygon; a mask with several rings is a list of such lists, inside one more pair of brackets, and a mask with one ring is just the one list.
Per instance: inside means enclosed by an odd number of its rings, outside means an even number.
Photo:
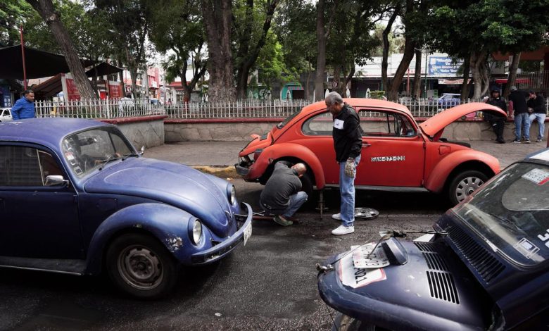
[{"label": "crouching man in dark shirt and jeans working at the red Beetle", "polygon": [[[272,162],[272,159],[269,160]],[[274,222],[279,225],[292,225],[294,213],[307,201],[307,194],[301,189],[301,180],[307,168],[303,163],[296,163],[289,168],[288,163],[274,163],[272,175],[265,183],[265,189],[259,197],[259,204],[264,211],[274,214]]]}]

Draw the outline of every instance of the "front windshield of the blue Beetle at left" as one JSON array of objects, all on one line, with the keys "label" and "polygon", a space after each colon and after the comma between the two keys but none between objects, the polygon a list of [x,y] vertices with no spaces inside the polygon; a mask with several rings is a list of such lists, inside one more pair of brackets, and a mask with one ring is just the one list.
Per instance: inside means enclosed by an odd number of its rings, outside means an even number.
[{"label": "front windshield of the blue Beetle at left", "polygon": [[70,170],[77,177],[135,154],[130,142],[114,127],[94,128],[70,135],[63,139],[62,149]]}]

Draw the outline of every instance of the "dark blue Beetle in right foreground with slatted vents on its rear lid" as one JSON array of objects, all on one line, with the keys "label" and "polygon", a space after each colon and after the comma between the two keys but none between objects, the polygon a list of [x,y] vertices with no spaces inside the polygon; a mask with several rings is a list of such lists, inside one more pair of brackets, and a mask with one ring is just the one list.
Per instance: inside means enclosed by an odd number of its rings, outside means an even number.
[{"label": "dark blue Beetle in right foreground with slatted vents on its rear lid", "polygon": [[334,327],[547,329],[549,149],[507,167],[434,230],[416,242],[386,235],[328,261],[318,288],[340,312]]}]

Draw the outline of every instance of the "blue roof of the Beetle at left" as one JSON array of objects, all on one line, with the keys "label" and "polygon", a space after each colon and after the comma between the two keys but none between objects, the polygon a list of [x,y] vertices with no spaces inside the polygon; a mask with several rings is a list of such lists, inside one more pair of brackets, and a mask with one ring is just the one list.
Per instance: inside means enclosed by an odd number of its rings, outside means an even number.
[{"label": "blue roof of the Beetle at left", "polygon": [[72,132],[90,127],[106,127],[110,124],[82,118],[28,118],[0,123],[0,141],[34,142],[59,146],[61,140]]}]

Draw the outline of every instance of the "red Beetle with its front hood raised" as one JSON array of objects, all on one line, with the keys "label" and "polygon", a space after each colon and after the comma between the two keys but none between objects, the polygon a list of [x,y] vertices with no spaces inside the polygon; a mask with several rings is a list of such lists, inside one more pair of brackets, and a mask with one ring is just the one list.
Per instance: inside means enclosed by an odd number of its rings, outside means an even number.
[{"label": "red Beetle with its front hood raised", "polygon": [[[360,116],[362,158],[357,189],[447,194],[455,205],[500,171],[497,158],[475,151],[465,142],[442,138],[444,128],[469,113],[487,111],[507,115],[484,103],[463,104],[417,124],[401,104],[377,99],[343,99]],[[236,171],[248,182],[265,184],[274,161],[303,162],[303,190],[337,187],[339,165],[332,140],[332,115],[324,101],[306,106],[239,153]]]}]

